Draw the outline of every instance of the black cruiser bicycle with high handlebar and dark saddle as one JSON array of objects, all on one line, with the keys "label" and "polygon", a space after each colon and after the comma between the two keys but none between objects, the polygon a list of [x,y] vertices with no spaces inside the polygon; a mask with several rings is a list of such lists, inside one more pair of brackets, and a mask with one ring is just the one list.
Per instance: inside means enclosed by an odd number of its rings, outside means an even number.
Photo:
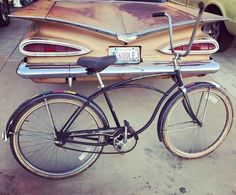
[{"label": "black cruiser bicycle with high handlebar and dark saddle", "polygon": [[[77,64],[95,74],[100,89],[85,97],[70,92],[47,92],[25,101],[8,121],[4,138],[10,137],[15,159],[28,171],[46,178],[66,178],[90,167],[100,154],[121,154],[133,150],[159,113],[157,132],[166,148],[182,158],[195,159],[214,151],[225,139],[233,122],[233,107],[222,88],[213,82],[185,85],[179,60],[189,54],[200,23],[204,5],[185,53],[173,48],[171,17],[164,12],[153,17],[167,17],[173,58],[172,73],[155,73],[130,78],[105,86],[100,73],[116,61],[115,56],[81,57]],[[171,75],[174,84],[167,91],[137,81]],[[109,93],[122,88],[141,88],[162,94],[147,123],[136,130],[118,119]],[[103,95],[115,126],[110,126],[103,109],[94,100]],[[14,119],[14,120],[13,120]],[[215,120],[218,121],[217,125]],[[220,125],[219,125],[220,124]],[[190,136],[194,135],[194,136]],[[113,146],[115,152],[105,152]]]}]

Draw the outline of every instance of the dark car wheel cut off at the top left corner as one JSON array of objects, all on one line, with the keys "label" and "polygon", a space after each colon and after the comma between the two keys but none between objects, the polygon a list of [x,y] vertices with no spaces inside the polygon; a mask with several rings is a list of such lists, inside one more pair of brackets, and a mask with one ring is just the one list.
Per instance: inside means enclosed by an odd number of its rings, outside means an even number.
[{"label": "dark car wheel cut off at the top left corner", "polygon": [[7,26],[10,23],[8,14],[10,13],[7,0],[0,1],[0,27]]}]

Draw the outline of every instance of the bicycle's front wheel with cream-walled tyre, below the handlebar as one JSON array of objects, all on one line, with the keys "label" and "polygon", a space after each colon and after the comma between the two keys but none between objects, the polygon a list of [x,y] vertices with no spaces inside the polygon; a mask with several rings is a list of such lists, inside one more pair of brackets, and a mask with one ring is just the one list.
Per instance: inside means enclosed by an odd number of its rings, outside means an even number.
[{"label": "bicycle's front wheel with cream-walled tyre, below the handlebar", "polygon": [[161,128],[167,149],[192,159],[211,153],[224,141],[232,126],[233,107],[227,95],[210,83],[192,86],[187,96],[202,125],[192,120],[183,93],[178,93],[166,104]]}]

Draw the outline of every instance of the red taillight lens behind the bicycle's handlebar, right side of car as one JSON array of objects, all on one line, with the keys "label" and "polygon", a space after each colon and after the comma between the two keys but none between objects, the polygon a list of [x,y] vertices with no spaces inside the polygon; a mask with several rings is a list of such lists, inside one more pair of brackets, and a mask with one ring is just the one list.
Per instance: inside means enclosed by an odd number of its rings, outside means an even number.
[{"label": "red taillight lens behind the bicycle's handlebar, right side of car", "polygon": [[[194,43],[192,45],[191,51],[202,51],[202,50],[214,50],[216,46],[212,43]],[[176,51],[186,51],[188,45],[181,45],[174,48]]]}]

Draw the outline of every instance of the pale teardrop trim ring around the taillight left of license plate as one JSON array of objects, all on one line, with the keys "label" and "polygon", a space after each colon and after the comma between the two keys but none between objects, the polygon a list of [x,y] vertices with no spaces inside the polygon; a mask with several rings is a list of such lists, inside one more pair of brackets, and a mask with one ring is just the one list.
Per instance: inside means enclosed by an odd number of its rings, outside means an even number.
[{"label": "pale teardrop trim ring around the taillight left of license plate", "polygon": [[[71,47],[74,49],[78,49],[80,51],[76,52],[29,52],[25,51],[24,47],[28,44],[34,44],[34,43],[44,43],[44,44],[49,44],[49,45],[60,45],[60,46],[66,46],[66,47]],[[87,54],[91,52],[90,49],[87,49],[85,47],[81,47],[72,43],[67,43],[67,42],[62,42],[59,40],[54,40],[54,39],[45,39],[45,38],[29,38],[29,39],[24,39],[23,41],[20,42],[19,45],[19,50],[22,54],[26,56],[76,56],[76,55],[82,55],[82,54]]]}]

